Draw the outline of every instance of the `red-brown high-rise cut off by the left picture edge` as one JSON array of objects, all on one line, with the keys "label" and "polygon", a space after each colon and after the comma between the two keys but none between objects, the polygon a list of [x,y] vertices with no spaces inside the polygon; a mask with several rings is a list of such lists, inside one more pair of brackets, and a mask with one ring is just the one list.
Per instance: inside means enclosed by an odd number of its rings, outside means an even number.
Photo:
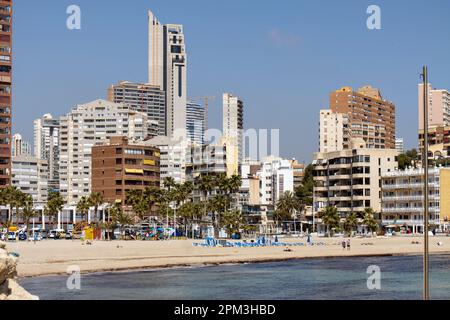
[{"label": "red-brown high-rise cut off by the left picture edge", "polygon": [[0,188],[11,183],[13,1],[0,1]]}]

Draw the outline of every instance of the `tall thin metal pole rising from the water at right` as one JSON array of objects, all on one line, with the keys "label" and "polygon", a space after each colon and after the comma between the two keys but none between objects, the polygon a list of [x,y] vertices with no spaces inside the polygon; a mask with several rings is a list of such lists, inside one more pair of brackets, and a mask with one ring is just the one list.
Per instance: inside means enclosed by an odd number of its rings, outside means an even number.
[{"label": "tall thin metal pole rising from the water at right", "polygon": [[429,245],[428,245],[428,68],[423,67],[423,167],[424,167],[424,255],[423,255],[423,299],[430,299],[429,290]]}]

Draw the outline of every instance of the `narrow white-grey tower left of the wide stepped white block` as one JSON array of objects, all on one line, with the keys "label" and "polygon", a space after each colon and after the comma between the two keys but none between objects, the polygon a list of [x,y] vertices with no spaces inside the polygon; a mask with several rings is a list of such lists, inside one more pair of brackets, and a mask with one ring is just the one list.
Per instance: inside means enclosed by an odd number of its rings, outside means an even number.
[{"label": "narrow white-grey tower left of the wide stepped white block", "polygon": [[59,119],[45,114],[34,121],[34,156],[47,160],[50,191],[59,191]]}]

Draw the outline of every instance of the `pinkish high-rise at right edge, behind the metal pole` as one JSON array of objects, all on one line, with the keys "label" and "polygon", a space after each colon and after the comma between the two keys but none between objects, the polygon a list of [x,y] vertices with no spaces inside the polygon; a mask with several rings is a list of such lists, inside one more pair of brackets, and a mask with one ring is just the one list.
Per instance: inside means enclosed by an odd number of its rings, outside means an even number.
[{"label": "pinkish high-rise at right edge, behind the metal pole", "polygon": [[[423,84],[418,86],[419,130],[423,130]],[[428,84],[428,126],[450,126],[450,92]]]}]

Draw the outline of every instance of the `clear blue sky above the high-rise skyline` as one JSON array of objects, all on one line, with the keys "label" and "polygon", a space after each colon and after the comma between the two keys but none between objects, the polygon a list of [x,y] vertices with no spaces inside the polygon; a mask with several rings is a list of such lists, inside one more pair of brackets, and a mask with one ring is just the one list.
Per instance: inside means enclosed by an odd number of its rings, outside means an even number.
[{"label": "clear blue sky above the high-rise skyline", "polygon": [[[81,7],[79,31],[66,28],[71,4]],[[371,4],[382,30],[366,27]],[[407,147],[417,145],[422,65],[434,87],[450,89],[448,0],[16,0],[14,132],[32,141],[43,114],[105,98],[119,80],[146,81],[148,9],[184,25],[188,93],[217,97],[211,126],[222,127],[221,95],[233,92],[246,128],[281,130],[285,157],[312,159],[319,110],[341,86],[380,88]]]}]

